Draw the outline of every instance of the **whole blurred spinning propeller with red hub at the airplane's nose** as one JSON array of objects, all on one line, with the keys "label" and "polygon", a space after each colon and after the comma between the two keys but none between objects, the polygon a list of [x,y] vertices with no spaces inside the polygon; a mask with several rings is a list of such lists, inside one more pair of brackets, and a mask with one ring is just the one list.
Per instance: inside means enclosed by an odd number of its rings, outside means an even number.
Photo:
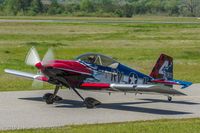
[{"label": "whole blurred spinning propeller with red hub at the airplane's nose", "polygon": [[[37,74],[42,76],[43,73],[41,72],[40,68],[47,65],[49,61],[53,61],[53,60],[54,60],[54,53],[51,48],[48,49],[48,51],[44,55],[44,58],[41,61],[36,48],[32,47],[26,56],[25,63],[27,65],[36,66],[39,69]],[[39,64],[39,67],[38,67],[38,64]],[[43,88],[43,82],[41,80],[34,79],[32,83],[32,87],[41,89]]]}]

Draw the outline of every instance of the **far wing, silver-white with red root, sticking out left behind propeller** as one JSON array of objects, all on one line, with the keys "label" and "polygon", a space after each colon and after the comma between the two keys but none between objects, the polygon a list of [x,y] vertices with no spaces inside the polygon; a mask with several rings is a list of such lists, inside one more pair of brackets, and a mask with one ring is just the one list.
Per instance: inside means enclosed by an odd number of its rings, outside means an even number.
[{"label": "far wing, silver-white with red root, sticking out left behind propeller", "polygon": [[37,79],[37,80],[48,82],[48,78],[45,77],[44,75],[32,74],[32,73],[16,71],[16,70],[11,70],[11,69],[5,69],[4,71],[8,74],[16,75],[19,77],[23,77],[27,79]]}]

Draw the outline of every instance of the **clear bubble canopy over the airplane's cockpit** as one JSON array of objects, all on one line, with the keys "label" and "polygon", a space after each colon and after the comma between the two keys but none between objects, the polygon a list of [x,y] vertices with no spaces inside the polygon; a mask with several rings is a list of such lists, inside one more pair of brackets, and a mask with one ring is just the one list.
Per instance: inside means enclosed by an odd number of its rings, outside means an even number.
[{"label": "clear bubble canopy over the airplane's cockpit", "polygon": [[101,66],[111,67],[111,68],[117,68],[119,65],[119,62],[115,61],[111,57],[108,57],[102,54],[96,54],[96,53],[83,54],[83,55],[78,56],[76,59],[80,61],[84,61],[86,63],[101,65]]}]

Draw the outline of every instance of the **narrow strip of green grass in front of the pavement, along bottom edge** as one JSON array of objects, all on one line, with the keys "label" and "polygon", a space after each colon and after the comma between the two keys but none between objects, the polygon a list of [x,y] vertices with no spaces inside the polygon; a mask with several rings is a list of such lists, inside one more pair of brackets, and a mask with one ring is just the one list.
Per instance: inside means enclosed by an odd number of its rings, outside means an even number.
[{"label": "narrow strip of green grass in front of the pavement, along bottom edge", "polygon": [[2,133],[199,133],[200,119],[136,121],[57,128],[1,131]]}]

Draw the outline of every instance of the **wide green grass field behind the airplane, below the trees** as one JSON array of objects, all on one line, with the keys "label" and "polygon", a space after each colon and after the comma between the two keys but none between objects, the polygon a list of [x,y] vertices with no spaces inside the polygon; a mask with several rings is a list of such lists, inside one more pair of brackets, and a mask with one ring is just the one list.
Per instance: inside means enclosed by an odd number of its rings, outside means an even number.
[{"label": "wide green grass field behind the airplane, below the trees", "polygon": [[[73,59],[86,52],[102,53],[146,74],[150,73],[158,56],[165,53],[174,57],[176,79],[195,83],[200,81],[200,23],[137,22],[200,22],[197,18],[148,16],[132,19],[66,17],[0,17],[0,19],[77,21],[77,23],[0,22],[0,91],[33,89],[31,81],[3,72],[5,68],[36,72],[35,68],[24,63],[25,56],[32,46],[38,49],[41,57],[49,47],[53,47],[58,59]],[[78,23],[80,20],[123,22]],[[52,87],[45,85],[45,89]]]}]

